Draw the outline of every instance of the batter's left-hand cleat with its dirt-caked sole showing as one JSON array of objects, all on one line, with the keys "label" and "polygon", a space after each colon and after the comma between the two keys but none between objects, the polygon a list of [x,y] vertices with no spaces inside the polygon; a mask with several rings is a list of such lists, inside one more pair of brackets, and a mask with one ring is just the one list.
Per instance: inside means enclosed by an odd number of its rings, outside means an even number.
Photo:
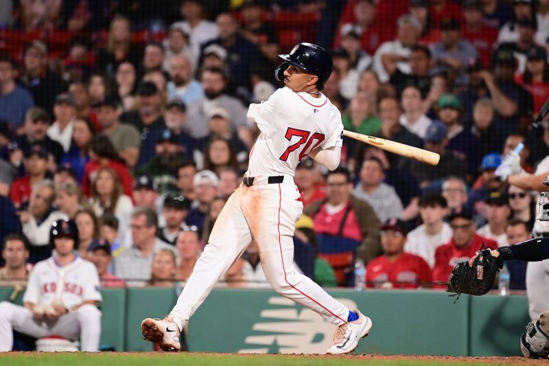
[{"label": "batter's left-hand cleat with its dirt-caked sole showing", "polygon": [[170,315],[164,319],[147,318],[143,320],[141,333],[147,341],[156,343],[165,352],[178,352],[181,349],[179,328]]}]

